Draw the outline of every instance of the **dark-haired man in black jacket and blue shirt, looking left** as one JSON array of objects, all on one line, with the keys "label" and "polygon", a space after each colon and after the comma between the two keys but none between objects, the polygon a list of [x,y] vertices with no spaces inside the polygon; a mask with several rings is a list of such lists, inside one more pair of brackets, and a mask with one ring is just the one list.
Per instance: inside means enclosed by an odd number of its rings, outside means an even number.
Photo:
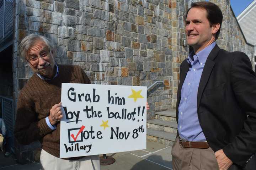
[{"label": "dark-haired man in black jacket and blue shirt, looking left", "polygon": [[211,2],[193,3],[186,14],[193,51],[180,66],[175,170],[243,169],[256,153],[256,76],[246,54],[215,43],[222,20]]}]

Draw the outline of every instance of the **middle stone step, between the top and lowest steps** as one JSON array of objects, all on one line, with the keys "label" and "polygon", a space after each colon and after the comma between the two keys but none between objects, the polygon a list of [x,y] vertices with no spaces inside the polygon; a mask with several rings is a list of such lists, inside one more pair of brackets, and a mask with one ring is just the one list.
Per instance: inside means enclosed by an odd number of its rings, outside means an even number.
[{"label": "middle stone step, between the top and lowest steps", "polygon": [[177,122],[159,119],[147,120],[147,127],[169,133],[177,132]]}]

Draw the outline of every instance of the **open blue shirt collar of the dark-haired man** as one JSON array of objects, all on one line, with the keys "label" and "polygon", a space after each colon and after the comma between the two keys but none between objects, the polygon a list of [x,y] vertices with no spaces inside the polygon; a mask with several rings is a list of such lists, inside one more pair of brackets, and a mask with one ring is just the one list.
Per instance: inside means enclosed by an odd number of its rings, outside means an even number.
[{"label": "open blue shirt collar of the dark-haired man", "polygon": [[208,55],[210,54],[215,45],[216,43],[213,42],[203,50],[199,51],[197,54],[194,54],[194,51],[192,51],[190,55],[187,57],[187,62],[191,65],[193,65],[197,61],[199,62],[200,65],[205,64]]}]

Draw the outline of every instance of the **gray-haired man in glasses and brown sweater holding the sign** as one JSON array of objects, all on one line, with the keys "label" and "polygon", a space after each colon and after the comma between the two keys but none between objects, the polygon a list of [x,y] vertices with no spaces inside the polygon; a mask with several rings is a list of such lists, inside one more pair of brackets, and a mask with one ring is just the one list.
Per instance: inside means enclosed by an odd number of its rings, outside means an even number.
[{"label": "gray-haired man in glasses and brown sweater holding the sign", "polygon": [[60,119],[62,118],[61,84],[90,83],[79,66],[57,65],[55,50],[46,37],[31,34],[19,46],[34,74],[22,88],[17,103],[15,137],[21,144],[42,143],[43,169],[99,170],[98,155],[59,158]]}]

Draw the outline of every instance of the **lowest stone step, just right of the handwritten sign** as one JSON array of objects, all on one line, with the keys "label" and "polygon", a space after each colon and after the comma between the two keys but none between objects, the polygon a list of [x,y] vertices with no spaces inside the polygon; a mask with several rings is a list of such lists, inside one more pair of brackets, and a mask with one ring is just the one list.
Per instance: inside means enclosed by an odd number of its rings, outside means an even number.
[{"label": "lowest stone step, just right of the handwritten sign", "polygon": [[168,133],[147,128],[147,139],[153,142],[172,145],[176,139],[176,133]]}]

